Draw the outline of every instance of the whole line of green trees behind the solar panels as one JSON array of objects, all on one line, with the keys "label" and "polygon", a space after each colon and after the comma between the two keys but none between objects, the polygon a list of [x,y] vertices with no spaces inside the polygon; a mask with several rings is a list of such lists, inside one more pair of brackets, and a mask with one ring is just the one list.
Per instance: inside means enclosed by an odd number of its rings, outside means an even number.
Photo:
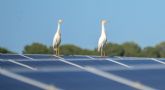
[{"label": "whole line of green trees behind the solar panels", "polygon": [[[165,57],[165,42],[161,42],[153,47],[141,48],[135,42],[125,42],[123,44],[107,43],[105,49],[107,56],[131,56],[131,57]],[[0,53],[14,53],[6,48],[0,47]],[[41,43],[26,45],[23,54],[53,54],[52,47]],[[76,45],[65,44],[60,46],[61,55],[99,55],[97,48],[83,49]]]}]

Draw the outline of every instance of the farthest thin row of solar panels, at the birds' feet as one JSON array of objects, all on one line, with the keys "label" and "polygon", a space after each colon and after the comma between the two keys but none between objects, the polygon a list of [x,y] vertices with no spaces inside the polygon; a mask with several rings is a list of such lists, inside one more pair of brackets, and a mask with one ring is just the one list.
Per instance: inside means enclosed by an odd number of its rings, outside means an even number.
[{"label": "farthest thin row of solar panels, at the birds' feet", "polygon": [[[55,55],[51,54],[0,54],[0,59],[59,59]],[[87,56],[87,55],[70,55],[70,56],[61,56],[65,59],[105,59],[109,57],[100,57],[100,56]],[[115,60],[149,60],[150,58],[145,57],[110,57]],[[157,58],[158,60],[165,60],[165,58]]]}]

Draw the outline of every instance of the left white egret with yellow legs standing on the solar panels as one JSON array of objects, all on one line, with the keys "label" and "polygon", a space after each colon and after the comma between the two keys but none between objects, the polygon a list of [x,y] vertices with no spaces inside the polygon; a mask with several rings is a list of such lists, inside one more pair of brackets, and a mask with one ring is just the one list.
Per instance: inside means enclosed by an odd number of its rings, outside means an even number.
[{"label": "left white egret with yellow legs standing on the solar panels", "polygon": [[61,19],[58,20],[58,27],[57,27],[57,31],[54,35],[54,39],[53,39],[53,50],[55,51],[55,54],[57,56],[60,55],[60,43],[61,43],[61,23],[63,21]]}]

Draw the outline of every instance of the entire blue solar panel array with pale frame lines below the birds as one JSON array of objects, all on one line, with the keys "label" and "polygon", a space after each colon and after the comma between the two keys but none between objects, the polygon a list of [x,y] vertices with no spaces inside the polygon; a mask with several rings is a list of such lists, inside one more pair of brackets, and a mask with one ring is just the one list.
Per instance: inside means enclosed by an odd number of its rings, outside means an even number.
[{"label": "entire blue solar panel array with pale frame lines below the birds", "polygon": [[164,90],[165,59],[0,54],[2,90]]}]

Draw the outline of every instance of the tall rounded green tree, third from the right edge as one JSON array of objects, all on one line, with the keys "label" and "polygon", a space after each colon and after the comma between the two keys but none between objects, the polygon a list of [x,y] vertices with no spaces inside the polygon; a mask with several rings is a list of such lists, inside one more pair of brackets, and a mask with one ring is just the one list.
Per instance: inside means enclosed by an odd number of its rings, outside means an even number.
[{"label": "tall rounded green tree, third from the right edge", "polygon": [[138,44],[134,42],[126,42],[122,44],[124,49],[124,56],[139,56],[141,52],[141,48]]}]

